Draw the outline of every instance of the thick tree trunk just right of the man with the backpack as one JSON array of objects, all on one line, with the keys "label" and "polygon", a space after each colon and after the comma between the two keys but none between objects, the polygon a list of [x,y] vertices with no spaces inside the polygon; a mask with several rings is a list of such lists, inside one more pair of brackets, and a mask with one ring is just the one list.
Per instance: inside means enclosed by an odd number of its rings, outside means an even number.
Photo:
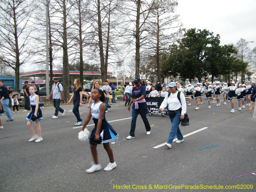
[{"label": "thick tree trunk just right of the man with the backpack", "polygon": [[63,88],[64,88],[64,102],[69,100],[69,65],[68,65],[68,43],[67,43],[67,13],[66,1],[63,0]]}]

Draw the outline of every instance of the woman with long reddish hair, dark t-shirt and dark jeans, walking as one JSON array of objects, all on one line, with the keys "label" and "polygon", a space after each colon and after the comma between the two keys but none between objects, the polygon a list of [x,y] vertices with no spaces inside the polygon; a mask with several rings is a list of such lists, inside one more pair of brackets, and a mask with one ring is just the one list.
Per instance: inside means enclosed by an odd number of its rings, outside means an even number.
[{"label": "woman with long reddish hair, dark t-shirt and dark jeans, walking", "polygon": [[80,114],[79,114],[79,106],[82,107],[82,87],[81,87],[81,83],[79,81],[79,79],[75,79],[74,80],[74,89],[73,89],[73,94],[70,97],[67,105],[69,105],[70,101],[74,98],[73,100],[73,113],[76,116],[77,122],[75,123],[75,125],[81,125],[83,120],[80,118]]}]

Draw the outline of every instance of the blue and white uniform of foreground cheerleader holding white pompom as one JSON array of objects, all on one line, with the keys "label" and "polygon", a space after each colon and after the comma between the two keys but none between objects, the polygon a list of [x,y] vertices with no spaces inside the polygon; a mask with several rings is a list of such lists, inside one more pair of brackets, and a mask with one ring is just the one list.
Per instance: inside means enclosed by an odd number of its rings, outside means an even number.
[{"label": "blue and white uniform of foreground cheerleader holding white pompom", "polygon": [[[98,124],[98,119],[100,115],[100,104],[103,103],[102,101],[99,101],[97,103],[92,104],[91,106],[91,114],[92,114],[92,120],[94,121],[94,129],[92,130],[92,135],[95,134]],[[104,116],[102,118],[102,124],[100,127],[99,135],[102,139],[101,143],[109,143],[113,140],[115,140],[119,135],[115,132],[115,130],[112,128],[110,124],[108,124],[106,118],[105,118],[105,112]]]}]

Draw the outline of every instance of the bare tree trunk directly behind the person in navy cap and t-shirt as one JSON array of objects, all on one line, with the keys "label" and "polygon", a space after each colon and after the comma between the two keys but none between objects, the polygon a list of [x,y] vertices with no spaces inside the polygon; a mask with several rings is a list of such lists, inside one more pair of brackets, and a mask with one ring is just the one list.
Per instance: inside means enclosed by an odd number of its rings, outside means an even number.
[{"label": "bare tree trunk directly behind the person in navy cap and t-shirt", "polygon": [[137,1],[135,77],[140,77],[140,0]]}]

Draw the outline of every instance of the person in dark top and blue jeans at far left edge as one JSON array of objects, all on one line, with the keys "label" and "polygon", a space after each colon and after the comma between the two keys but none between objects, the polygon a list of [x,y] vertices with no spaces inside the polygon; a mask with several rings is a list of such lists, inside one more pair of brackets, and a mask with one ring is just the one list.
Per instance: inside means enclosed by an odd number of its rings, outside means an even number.
[{"label": "person in dark top and blue jeans at far left edge", "polygon": [[4,108],[5,114],[8,117],[7,122],[13,121],[12,112],[8,105],[9,104],[9,95],[7,94],[7,88],[4,86],[4,83],[2,80],[0,80],[0,98],[1,98],[1,103]]}]

